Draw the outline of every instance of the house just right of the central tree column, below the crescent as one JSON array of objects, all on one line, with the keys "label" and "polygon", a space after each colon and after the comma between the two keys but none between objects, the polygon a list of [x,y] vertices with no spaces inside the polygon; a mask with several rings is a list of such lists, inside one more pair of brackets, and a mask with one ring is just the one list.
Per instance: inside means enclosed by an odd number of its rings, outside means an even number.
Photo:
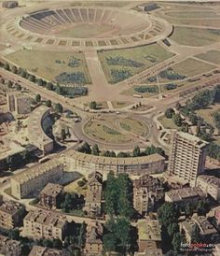
[{"label": "house just right of the central tree column, below the crescent", "polygon": [[154,209],[155,203],[164,195],[158,178],[144,175],[133,181],[133,207],[140,214],[147,214]]}]

